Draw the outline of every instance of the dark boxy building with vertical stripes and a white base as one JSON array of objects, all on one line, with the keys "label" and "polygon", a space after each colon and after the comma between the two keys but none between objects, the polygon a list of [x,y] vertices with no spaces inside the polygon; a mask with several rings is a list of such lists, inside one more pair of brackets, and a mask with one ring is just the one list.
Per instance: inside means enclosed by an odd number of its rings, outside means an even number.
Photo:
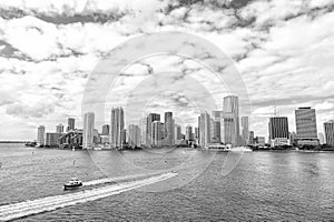
[{"label": "dark boxy building with vertical stripes and a white base", "polygon": [[272,147],[288,145],[288,121],[287,117],[269,118],[269,143]]}]

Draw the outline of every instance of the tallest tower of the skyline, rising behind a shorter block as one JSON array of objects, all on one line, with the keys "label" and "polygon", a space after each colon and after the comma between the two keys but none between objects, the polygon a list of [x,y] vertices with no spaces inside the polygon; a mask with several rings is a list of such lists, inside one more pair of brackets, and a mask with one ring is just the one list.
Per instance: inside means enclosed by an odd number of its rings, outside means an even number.
[{"label": "tallest tower of the skyline, rising behind a shorter block", "polygon": [[[240,130],[239,130],[239,98],[235,97],[235,95],[228,95],[224,98],[224,102],[223,102],[223,115],[234,115],[234,124],[235,127],[233,128],[235,130],[235,132],[229,132],[234,133],[236,139],[235,144],[234,145],[238,145],[239,141],[240,141]],[[229,118],[228,118],[229,119]],[[228,120],[230,121],[230,119]],[[230,123],[230,122],[229,122]]]}]

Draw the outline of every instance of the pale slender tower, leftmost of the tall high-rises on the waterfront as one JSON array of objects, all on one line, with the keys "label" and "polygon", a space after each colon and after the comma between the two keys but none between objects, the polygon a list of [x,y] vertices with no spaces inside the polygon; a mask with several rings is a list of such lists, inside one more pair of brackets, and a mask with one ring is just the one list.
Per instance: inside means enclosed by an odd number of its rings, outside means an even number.
[{"label": "pale slender tower, leftmost of the tall high-rises on the waterfront", "polygon": [[87,112],[84,117],[82,149],[94,148],[95,114]]}]

